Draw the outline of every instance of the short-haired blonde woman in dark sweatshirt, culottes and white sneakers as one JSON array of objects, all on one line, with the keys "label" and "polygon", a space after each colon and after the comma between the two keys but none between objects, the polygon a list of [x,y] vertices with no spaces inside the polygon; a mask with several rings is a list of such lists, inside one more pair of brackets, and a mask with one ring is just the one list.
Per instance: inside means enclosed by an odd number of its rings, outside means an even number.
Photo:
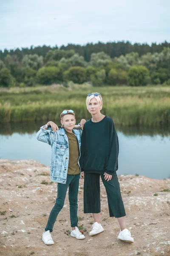
[{"label": "short-haired blonde woman in dark sweatshirt, culottes and white sneakers", "polygon": [[116,171],[118,169],[119,142],[113,120],[100,113],[102,96],[89,93],[86,99],[92,118],[83,128],[81,137],[80,166],[84,178],[84,213],[93,213],[94,224],[89,233],[94,236],[104,231],[100,224],[100,183],[105,186],[110,217],[116,217],[120,225],[118,239],[133,243],[126,229],[126,213]]}]

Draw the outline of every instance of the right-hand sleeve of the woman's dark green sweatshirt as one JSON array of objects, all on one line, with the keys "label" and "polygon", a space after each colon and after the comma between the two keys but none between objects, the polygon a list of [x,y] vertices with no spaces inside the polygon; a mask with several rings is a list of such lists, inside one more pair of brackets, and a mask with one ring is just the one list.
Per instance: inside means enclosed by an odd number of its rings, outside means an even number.
[{"label": "right-hand sleeve of the woman's dark green sweatshirt", "polygon": [[113,121],[110,122],[109,159],[105,172],[113,175],[118,169],[119,140]]}]

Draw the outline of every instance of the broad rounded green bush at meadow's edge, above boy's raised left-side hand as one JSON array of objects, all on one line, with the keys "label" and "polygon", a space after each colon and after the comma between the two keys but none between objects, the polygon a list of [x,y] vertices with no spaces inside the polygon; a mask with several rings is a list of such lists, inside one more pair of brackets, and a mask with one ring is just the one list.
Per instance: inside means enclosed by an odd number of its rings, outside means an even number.
[{"label": "broad rounded green bush at meadow's edge, above boy's raised left-side hand", "polygon": [[37,71],[37,82],[40,84],[53,84],[60,82],[58,67],[42,67]]}]

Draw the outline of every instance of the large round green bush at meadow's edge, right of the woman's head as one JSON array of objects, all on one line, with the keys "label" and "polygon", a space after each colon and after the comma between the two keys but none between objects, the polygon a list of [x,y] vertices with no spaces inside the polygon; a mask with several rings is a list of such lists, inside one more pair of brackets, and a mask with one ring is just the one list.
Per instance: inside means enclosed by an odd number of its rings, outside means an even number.
[{"label": "large round green bush at meadow's edge, right of the woman's head", "polygon": [[149,70],[144,66],[132,66],[129,68],[127,82],[130,86],[143,86],[149,82]]}]

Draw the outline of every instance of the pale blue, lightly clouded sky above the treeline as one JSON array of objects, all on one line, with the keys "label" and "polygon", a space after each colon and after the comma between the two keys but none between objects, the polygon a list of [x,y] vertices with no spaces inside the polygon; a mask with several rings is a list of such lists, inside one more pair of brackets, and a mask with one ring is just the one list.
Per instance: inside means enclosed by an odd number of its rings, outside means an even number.
[{"label": "pale blue, lightly clouded sky above the treeline", "polygon": [[170,0],[0,0],[0,49],[170,42]]}]

